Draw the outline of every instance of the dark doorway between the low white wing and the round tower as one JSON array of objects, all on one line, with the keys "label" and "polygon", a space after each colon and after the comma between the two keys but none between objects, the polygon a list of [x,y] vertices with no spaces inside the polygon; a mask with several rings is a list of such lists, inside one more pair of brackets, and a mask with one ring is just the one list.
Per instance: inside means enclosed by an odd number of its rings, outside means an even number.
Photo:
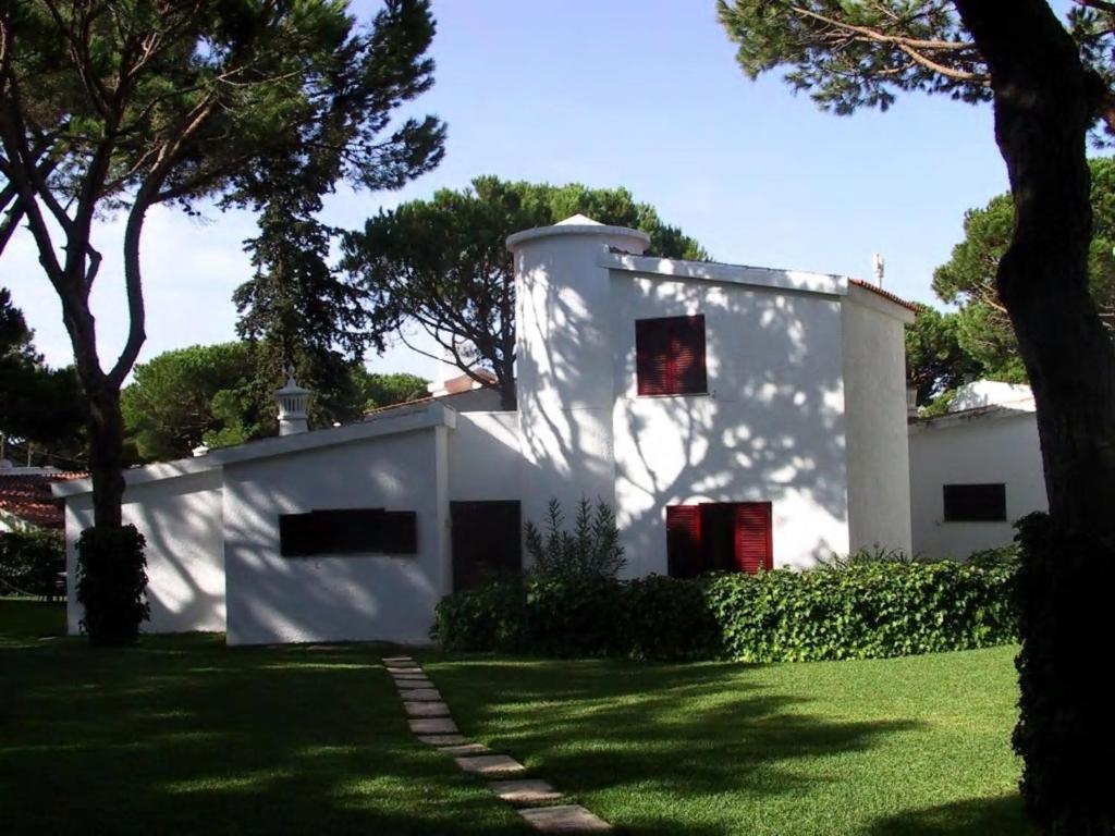
[{"label": "dark doorway between the low white wing and the round tower", "polygon": [[523,572],[517,499],[449,503],[453,589],[474,589]]}]

